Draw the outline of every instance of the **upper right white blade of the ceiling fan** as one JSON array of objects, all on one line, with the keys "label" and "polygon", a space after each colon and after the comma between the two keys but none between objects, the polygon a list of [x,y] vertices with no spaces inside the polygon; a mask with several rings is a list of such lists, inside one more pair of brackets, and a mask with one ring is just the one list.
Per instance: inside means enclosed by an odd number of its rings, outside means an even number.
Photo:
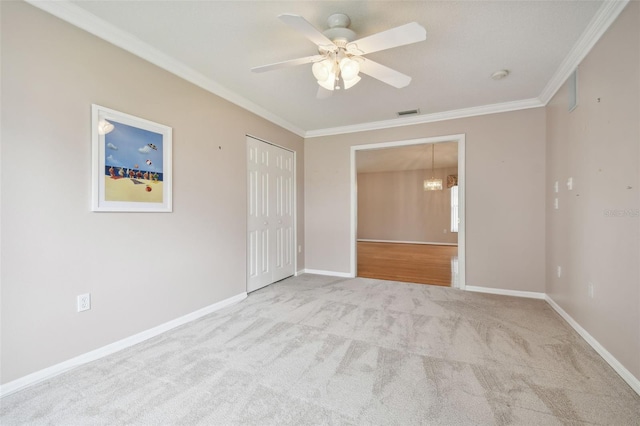
[{"label": "upper right white blade of the ceiling fan", "polygon": [[427,30],[417,22],[411,22],[347,43],[347,51],[364,55],[391,49],[392,47],[404,46],[405,44],[417,43],[426,39]]}]

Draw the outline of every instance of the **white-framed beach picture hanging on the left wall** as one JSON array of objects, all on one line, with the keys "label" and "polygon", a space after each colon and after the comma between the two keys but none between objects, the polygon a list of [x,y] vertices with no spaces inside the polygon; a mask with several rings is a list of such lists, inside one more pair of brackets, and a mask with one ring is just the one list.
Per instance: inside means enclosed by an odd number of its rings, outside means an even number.
[{"label": "white-framed beach picture hanging on the left wall", "polygon": [[171,212],[171,127],[91,106],[98,212]]}]

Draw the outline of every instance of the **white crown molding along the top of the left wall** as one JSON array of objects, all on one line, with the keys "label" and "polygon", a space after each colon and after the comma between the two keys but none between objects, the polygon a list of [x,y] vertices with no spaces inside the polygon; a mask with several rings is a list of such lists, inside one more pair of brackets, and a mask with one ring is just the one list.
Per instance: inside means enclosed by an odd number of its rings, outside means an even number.
[{"label": "white crown molding along the top of the left wall", "polygon": [[38,1],[26,0],[27,3],[37,7],[51,15],[62,19],[88,33],[95,35],[121,49],[126,50],[160,68],[175,74],[176,76],[195,84],[202,89],[213,93],[233,104],[236,104],[249,112],[252,112],[265,120],[283,127],[298,136],[304,137],[304,130],[294,126],[283,118],[256,105],[242,96],[230,91],[219,83],[205,77],[194,69],[187,67],[160,50],[148,45],[142,40],[132,36],[126,31],[109,24],[99,17],[85,11],[67,0]]}]

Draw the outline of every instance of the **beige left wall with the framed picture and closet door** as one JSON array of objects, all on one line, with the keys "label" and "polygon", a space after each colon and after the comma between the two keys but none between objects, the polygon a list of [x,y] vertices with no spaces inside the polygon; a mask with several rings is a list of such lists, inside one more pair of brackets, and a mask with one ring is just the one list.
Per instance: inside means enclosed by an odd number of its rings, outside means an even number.
[{"label": "beige left wall with the framed picture and closet door", "polygon": [[[0,3],[2,383],[245,291],[247,133],[297,152],[304,244],[302,138]],[[173,213],[90,211],[92,103],[173,128]],[[92,309],[76,313],[85,292]]]}]

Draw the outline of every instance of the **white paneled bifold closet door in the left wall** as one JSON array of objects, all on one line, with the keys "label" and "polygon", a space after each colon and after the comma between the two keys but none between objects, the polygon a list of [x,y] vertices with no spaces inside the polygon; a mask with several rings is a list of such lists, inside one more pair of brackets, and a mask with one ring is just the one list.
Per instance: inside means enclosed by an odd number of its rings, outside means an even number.
[{"label": "white paneled bifold closet door in the left wall", "polygon": [[247,292],[294,274],[293,152],[247,137]]}]

